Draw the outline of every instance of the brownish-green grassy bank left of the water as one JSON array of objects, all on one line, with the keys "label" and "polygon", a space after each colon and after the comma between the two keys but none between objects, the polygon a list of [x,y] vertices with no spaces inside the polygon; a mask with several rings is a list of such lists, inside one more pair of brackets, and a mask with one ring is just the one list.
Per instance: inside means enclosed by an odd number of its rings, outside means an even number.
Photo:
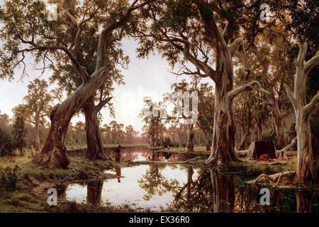
[{"label": "brownish-green grassy bank left of the water", "polygon": [[[75,204],[59,197],[57,206],[47,205],[47,189],[66,189],[72,183],[85,184],[94,179],[111,179],[116,175],[105,170],[116,167],[113,160],[94,161],[70,157],[67,170],[51,170],[32,162],[29,152],[23,157],[0,157],[0,213],[2,212],[130,212],[127,206],[91,206]],[[128,166],[121,162],[120,167]]]}]

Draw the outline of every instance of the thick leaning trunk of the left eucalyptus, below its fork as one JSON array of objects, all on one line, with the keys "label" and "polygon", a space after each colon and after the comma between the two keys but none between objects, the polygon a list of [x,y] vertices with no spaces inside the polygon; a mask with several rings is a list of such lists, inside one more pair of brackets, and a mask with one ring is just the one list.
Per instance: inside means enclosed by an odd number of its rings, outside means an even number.
[{"label": "thick leaning trunk of the left eucalyptus, below its fork", "polygon": [[69,165],[67,157],[67,148],[65,148],[65,135],[69,121],[75,111],[77,111],[89,97],[101,87],[108,77],[106,67],[101,67],[92,74],[89,81],[84,82],[78,89],[73,92],[62,104],[57,104],[51,111],[50,120],[51,128],[47,135],[47,140],[41,153],[34,159],[35,163],[45,165],[46,167],[63,167]]}]

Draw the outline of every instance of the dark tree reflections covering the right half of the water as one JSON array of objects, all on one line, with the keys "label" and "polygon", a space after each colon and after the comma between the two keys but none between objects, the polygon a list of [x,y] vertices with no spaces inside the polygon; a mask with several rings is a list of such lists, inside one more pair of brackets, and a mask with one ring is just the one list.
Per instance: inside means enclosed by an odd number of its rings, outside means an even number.
[{"label": "dark tree reflections covering the right half of the water", "polygon": [[[161,168],[151,165],[139,180],[145,189],[144,199],[152,195],[173,192],[174,199],[168,204],[169,212],[235,212],[235,213],[281,213],[318,212],[318,192],[295,189],[278,189],[271,186],[241,184],[240,175],[218,170],[200,169],[193,179],[194,170],[184,166],[187,181],[165,179]],[[271,194],[270,206],[259,204],[260,189],[267,187]],[[296,191],[296,192],[295,192]]]}]

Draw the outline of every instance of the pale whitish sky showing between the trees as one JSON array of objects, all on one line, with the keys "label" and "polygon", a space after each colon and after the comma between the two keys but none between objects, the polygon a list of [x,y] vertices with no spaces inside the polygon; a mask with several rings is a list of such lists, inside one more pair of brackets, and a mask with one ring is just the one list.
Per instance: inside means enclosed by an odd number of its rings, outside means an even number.
[{"label": "pale whitish sky showing between the trees", "polygon": [[[3,5],[3,1],[1,0],[0,5]],[[168,63],[158,53],[151,55],[147,59],[138,59],[135,50],[139,44],[136,40],[124,39],[122,40],[122,44],[124,54],[130,57],[128,70],[122,70],[125,85],[116,85],[113,92],[112,101],[116,117],[111,118],[108,109],[104,108],[101,111],[103,116],[101,126],[115,120],[118,123],[123,123],[125,126],[132,125],[135,131],[141,132],[143,123],[138,115],[144,107],[143,98],[150,96],[152,101],[160,101],[164,92],[171,91],[170,86],[172,83],[178,82],[181,79],[189,80],[189,77],[181,76],[177,78],[176,75],[169,72]],[[34,68],[32,56],[28,56],[28,59],[28,77],[21,79],[21,69],[17,69],[15,70],[15,79],[11,82],[0,80],[1,114],[8,114],[12,117],[11,110],[13,107],[23,103],[23,97],[28,94],[28,83],[39,77],[48,81],[52,73],[50,70],[47,70],[41,75],[41,72]],[[203,79],[203,82],[211,82],[213,85],[211,79]],[[52,88],[54,87],[53,85]],[[72,123],[76,123],[77,121],[84,121],[84,116],[80,115],[72,118]]]}]

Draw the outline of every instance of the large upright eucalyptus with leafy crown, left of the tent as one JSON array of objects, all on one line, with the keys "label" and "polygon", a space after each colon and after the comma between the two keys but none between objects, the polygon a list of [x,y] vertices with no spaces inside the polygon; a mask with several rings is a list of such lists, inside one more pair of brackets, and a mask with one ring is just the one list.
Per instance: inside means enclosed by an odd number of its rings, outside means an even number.
[{"label": "large upright eucalyptus with leafy crown, left of the tent", "polygon": [[[261,88],[257,81],[243,82],[236,88],[233,84],[233,55],[240,52],[248,79],[250,65],[246,51],[254,44],[254,37],[272,25],[260,23],[259,4],[259,1],[151,1],[141,11],[144,19],[138,23],[140,31],[132,34],[140,38],[140,57],[157,50],[173,68],[181,66],[180,72],[208,77],[215,83],[213,145],[206,163],[223,166],[235,159],[233,99],[252,90],[254,85]],[[240,31],[247,38],[247,46],[243,38],[236,38]]]}]

